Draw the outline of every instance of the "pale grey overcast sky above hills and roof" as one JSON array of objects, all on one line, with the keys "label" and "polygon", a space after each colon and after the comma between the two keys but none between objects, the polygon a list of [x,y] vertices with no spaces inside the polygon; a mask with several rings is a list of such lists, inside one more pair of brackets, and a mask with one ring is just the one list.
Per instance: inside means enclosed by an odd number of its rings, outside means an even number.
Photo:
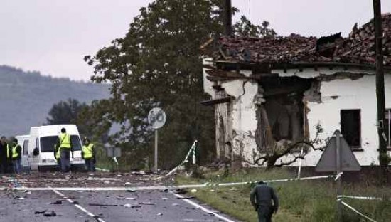
[{"label": "pale grey overcast sky above hills and roof", "polygon": [[[196,0],[188,0],[196,1]],[[127,33],[141,6],[151,0],[0,0],[0,65],[43,75],[88,80],[83,60]],[[373,17],[373,0],[252,0],[252,22],[270,22],[280,35],[347,36]],[[249,0],[232,0],[249,15]],[[382,0],[382,12],[391,1]],[[237,16],[236,18],[237,19]]]}]

